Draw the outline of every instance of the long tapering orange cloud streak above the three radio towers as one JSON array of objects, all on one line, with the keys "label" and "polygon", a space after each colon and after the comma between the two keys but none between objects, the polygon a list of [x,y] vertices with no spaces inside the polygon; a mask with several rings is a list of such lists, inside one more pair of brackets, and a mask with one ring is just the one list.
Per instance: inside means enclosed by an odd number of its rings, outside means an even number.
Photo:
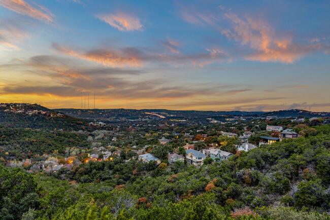
[{"label": "long tapering orange cloud streak above the three radio towers", "polygon": [[138,52],[135,50],[106,50],[98,49],[93,51],[88,51],[86,53],[77,52],[68,48],[64,48],[58,44],[53,44],[53,47],[70,56],[78,57],[80,59],[101,63],[105,66],[112,67],[123,67],[123,66],[142,66],[142,60],[138,56]]}]

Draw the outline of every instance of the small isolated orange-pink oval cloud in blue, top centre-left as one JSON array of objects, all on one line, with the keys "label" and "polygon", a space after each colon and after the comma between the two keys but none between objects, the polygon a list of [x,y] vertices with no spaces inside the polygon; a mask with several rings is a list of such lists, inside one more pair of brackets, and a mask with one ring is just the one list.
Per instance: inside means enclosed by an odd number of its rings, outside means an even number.
[{"label": "small isolated orange-pink oval cloud in blue, top centre-left", "polygon": [[118,12],[116,15],[97,15],[96,17],[121,31],[141,30],[143,28],[138,17],[122,12]]}]

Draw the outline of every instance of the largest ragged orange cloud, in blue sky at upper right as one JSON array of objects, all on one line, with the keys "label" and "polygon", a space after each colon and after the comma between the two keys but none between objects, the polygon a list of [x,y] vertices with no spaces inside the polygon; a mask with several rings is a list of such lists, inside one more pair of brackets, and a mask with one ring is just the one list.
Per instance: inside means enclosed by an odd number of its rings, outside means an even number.
[{"label": "largest ragged orange cloud, in blue sky at upper right", "polygon": [[232,29],[222,30],[221,33],[243,46],[258,51],[245,55],[244,58],[247,60],[292,63],[309,52],[321,49],[317,44],[294,44],[291,36],[279,37],[271,25],[263,19],[241,18],[232,12],[225,13],[224,16],[233,26]]}]

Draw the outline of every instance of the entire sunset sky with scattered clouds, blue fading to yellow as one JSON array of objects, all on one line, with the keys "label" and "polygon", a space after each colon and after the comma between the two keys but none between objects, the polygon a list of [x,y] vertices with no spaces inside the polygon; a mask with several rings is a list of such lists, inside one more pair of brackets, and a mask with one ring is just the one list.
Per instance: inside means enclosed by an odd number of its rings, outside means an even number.
[{"label": "entire sunset sky with scattered clouds, blue fading to yellow", "polygon": [[328,0],[0,0],[0,102],[330,112],[329,11]]}]

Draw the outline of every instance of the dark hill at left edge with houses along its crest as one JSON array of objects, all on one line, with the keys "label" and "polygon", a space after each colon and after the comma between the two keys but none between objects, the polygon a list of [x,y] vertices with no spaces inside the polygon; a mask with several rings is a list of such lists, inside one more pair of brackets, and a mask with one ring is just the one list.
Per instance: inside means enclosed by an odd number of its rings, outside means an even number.
[{"label": "dark hill at left edge with houses along its crest", "polygon": [[81,130],[86,120],[58,113],[39,104],[0,103],[0,125],[13,128]]}]

